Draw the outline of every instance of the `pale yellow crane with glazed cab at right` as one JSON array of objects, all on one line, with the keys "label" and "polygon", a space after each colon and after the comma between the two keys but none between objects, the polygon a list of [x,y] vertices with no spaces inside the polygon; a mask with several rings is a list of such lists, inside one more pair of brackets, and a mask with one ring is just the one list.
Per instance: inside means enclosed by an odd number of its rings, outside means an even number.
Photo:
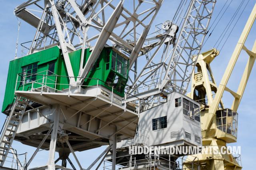
[{"label": "pale yellow crane with glazed cab at right", "polygon": [[[237,118],[236,113],[248,78],[252,71],[256,59],[256,41],[249,50],[245,46],[245,42],[252,29],[256,19],[256,4],[248,18],[248,21],[242,31],[240,39],[234,49],[232,57],[228,63],[226,71],[223,74],[219,86],[216,85],[210,63],[218,56],[219,52],[216,49],[211,49],[199,55],[196,68],[192,76],[191,93],[188,96],[193,100],[201,103],[201,128],[202,128],[202,144],[203,146],[210,146],[217,152],[203,152],[188,156],[184,162],[184,168],[204,170],[240,170],[242,169],[237,157],[232,154],[222,154],[220,152],[222,147],[226,147],[227,143],[235,143],[237,139]],[[240,80],[238,90],[235,92],[227,87],[228,80],[234,70],[238,57],[241,51],[244,50],[248,54],[248,62],[244,68],[244,73]],[[243,56],[244,57],[244,56]],[[222,96],[224,91],[230,92],[234,97],[232,107],[225,108],[222,103]],[[195,157],[197,163],[194,164]],[[194,167],[191,165],[193,164]]]}]

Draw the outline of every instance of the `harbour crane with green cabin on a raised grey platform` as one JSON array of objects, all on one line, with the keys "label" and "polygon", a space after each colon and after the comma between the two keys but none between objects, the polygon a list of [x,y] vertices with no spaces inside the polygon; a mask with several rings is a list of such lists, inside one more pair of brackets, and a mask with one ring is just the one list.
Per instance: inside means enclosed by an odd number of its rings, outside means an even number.
[{"label": "harbour crane with green cabin on a raised grey platform", "polygon": [[55,170],[67,162],[74,168],[70,153],[82,169],[74,150],[110,145],[108,151],[117,140],[134,137],[140,102],[124,102],[124,88],[162,3],[27,0],[15,8],[36,33],[21,44],[25,56],[10,62],[0,166],[8,162],[14,140],[36,147],[26,167],[42,148],[49,156],[38,169]]}]

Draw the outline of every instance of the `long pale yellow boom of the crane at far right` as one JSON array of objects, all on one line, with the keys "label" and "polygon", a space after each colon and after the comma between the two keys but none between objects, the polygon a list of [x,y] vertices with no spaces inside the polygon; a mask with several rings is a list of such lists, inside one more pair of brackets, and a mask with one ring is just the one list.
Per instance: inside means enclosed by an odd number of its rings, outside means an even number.
[{"label": "long pale yellow boom of the crane at far right", "polygon": [[[244,27],[244,30],[243,30],[243,32],[240,36],[240,39],[238,40],[236,48],[235,48],[235,50],[232,54],[232,57],[231,57],[231,59],[228,63],[228,66],[225,70],[225,73],[222,77],[220,85],[218,86],[218,90],[216,92],[215,98],[214,98],[212,104],[210,105],[210,108],[209,108],[209,113],[210,114],[208,114],[208,117],[207,117],[207,120],[206,120],[206,129],[205,130],[208,130],[210,128],[211,122],[214,118],[214,115],[215,115],[217,109],[218,109],[218,105],[220,103],[220,100],[222,98],[224,90],[230,92],[234,96],[234,102],[233,102],[233,105],[232,105],[232,109],[234,109],[234,111],[236,111],[238,106],[239,106],[239,103],[241,101],[242,95],[244,93],[244,89],[245,89],[246,84],[248,82],[248,78],[250,76],[250,72],[252,70],[252,67],[254,65],[255,58],[256,58],[256,41],[254,43],[252,51],[248,50],[244,45],[245,42],[246,42],[246,39],[247,39],[251,29],[252,29],[252,25],[253,25],[255,19],[256,19],[256,4],[254,5],[254,8],[253,8],[253,10],[252,10],[252,12],[251,12],[251,14],[248,18],[248,21],[247,21],[247,23]],[[229,88],[227,88],[226,86],[227,86],[228,80],[231,76],[231,73],[234,69],[234,66],[236,64],[236,61],[238,60],[238,57],[240,56],[240,53],[241,53],[242,49],[245,50],[250,57],[248,59],[248,63],[247,63],[246,68],[244,70],[243,77],[240,81],[238,91],[235,93],[232,90],[230,90]]]}]

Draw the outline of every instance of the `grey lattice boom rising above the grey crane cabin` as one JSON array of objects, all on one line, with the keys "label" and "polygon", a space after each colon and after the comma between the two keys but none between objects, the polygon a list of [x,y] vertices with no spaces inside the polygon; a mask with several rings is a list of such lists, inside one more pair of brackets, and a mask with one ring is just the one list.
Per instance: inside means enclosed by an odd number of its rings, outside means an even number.
[{"label": "grey lattice boom rising above the grey crane cabin", "polygon": [[[147,58],[145,66],[132,82],[129,93],[152,89],[186,93],[196,61],[193,57],[200,53],[215,3],[216,0],[191,0],[177,40],[173,35],[166,42],[165,37],[154,54]],[[174,24],[170,23],[172,26]],[[177,27],[171,27],[169,31],[172,29],[175,33],[178,31]],[[158,54],[160,51],[163,51],[161,55]]]}]

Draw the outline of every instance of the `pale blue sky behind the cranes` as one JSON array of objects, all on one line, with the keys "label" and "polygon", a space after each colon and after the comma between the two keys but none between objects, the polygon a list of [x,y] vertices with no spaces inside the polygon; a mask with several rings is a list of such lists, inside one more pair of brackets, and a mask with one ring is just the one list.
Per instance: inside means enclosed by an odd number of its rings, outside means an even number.
[{"label": "pale blue sky behind the cranes", "polygon": [[[229,0],[230,1],[230,0]],[[229,2],[228,1],[228,2]],[[6,87],[6,79],[8,73],[8,65],[9,61],[14,59],[15,56],[15,44],[18,35],[18,20],[16,16],[14,16],[14,8],[25,2],[24,0],[0,0],[0,4],[2,6],[0,10],[0,50],[2,51],[1,55],[1,62],[0,62],[0,103],[3,102],[4,92]],[[156,17],[155,23],[153,25],[157,25],[158,23],[163,23],[166,20],[171,20],[173,15],[176,11],[176,8],[179,4],[179,0],[165,0],[164,5],[161,7],[158,16]],[[213,23],[216,16],[218,16],[222,6],[226,1],[217,0],[214,13],[212,16],[212,20],[210,25]],[[233,0],[230,4],[230,7],[223,15],[222,19],[215,22],[216,28],[212,32],[212,35],[209,37],[207,43],[204,45],[202,51],[206,51],[212,47],[220,37],[220,34],[226,27],[227,23],[230,21],[230,18],[234,14],[234,11],[238,8],[240,4],[240,0]],[[245,0],[247,2],[247,0]],[[229,38],[227,39],[226,43],[224,44],[222,50],[220,51],[220,55],[214,59],[211,63],[212,72],[216,79],[216,82],[219,84],[222,78],[222,75],[228,65],[228,61],[234,51],[236,43],[244,29],[244,25],[247,21],[248,16],[255,4],[255,0],[249,0],[248,5],[246,6],[244,12],[242,13],[240,19],[238,20],[237,24],[234,26],[232,25],[231,28],[234,27],[232,33],[230,34]],[[235,18],[235,20],[238,16]],[[215,26],[212,26],[212,28]],[[231,29],[230,28],[230,29]],[[19,44],[31,41],[34,37],[36,29],[25,22],[21,22],[20,27],[20,35],[19,35]],[[225,39],[225,38],[224,38]],[[252,49],[252,45],[256,39],[256,24],[253,25],[252,31],[248,36],[248,40],[246,41],[246,47],[248,49]],[[224,41],[222,41],[224,42]],[[215,46],[216,47],[216,46]],[[222,44],[219,45],[218,50],[220,50]],[[21,48],[18,48],[18,57],[21,56]],[[232,72],[232,77],[229,80],[228,87],[234,91],[237,90],[238,84],[240,82],[240,78],[243,73],[243,69],[245,64],[247,63],[248,56],[242,52],[240,58],[237,61],[237,66],[235,67],[234,71]],[[256,123],[256,114],[255,108],[256,106],[256,67],[252,69],[252,73],[250,75],[248,84],[246,86],[246,90],[244,92],[244,96],[238,108],[238,139],[237,143],[229,144],[231,146],[241,146],[241,158],[242,158],[242,166],[244,169],[254,169],[254,153],[256,152],[256,146],[254,145],[256,141],[255,129]],[[227,92],[223,95],[223,102],[226,108],[230,108],[232,105],[233,98]],[[2,107],[2,106],[1,106]],[[4,119],[6,116],[4,114],[0,114],[0,125],[3,125]],[[18,154],[22,154],[28,152],[28,158],[32,155],[35,148],[28,147],[26,145],[22,145],[21,143],[14,142],[13,147],[18,150]],[[80,162],[84,168],[88,167],[91,162],[94,161],[95,158],[105,149],[105,147],[100,147],[98,149],[87,150],[84,152],[76,152],[78,158],[80,158]],[[44,165],[47,162],[45,157],[48,155],[47,151],[40,151],[36,158],[34,159],[31,167]],[[57,154],[56,154],[57,155]],[[22,157],[22,156],[21,156]],[[22,158],[21,158],[22,159]],[[75,161],[74,161],[75,162]]]}]

